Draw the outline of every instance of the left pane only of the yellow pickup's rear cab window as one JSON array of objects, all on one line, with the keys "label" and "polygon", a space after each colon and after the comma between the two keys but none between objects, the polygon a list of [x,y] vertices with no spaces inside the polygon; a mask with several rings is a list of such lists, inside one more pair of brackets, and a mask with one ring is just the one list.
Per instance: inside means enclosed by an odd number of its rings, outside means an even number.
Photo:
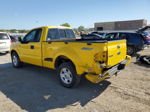
[{"label": "left pane only of the yellow pickup's rear cab window", "polygon": [[49,29],[47,40],[55,40],[55,39],[60,39],[58,29]]}]

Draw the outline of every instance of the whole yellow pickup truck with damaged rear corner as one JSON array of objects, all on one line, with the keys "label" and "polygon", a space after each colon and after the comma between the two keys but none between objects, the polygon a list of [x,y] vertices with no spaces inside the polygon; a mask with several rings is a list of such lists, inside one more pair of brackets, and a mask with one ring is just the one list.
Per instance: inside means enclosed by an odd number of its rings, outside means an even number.
[{"label": "whole yellow pickup truck with damaged rear corner", "polygon": [[11,46],[15,68],[29,63],[56,69],[61,84],[71,88],[81,76],[98,83],[118,74],[130,63],[126,40],[76,39],[71,28],[44,26],[31,30]]}]

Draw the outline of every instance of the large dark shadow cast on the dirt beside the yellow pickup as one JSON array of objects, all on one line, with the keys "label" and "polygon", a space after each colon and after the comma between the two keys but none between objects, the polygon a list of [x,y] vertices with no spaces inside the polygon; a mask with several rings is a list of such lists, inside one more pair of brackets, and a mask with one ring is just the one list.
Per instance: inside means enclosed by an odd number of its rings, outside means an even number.
[{"label": "large dark shadow cast on the dirt beside the yellow pickup", "polygon": [[4,67],[0,72],[0,91],[22,109],[29,112],[45,112],[49,109],[81,106],[99,96],[111,83],[92,84],[82,80],[78,88],[62,87],[56,71],[32,65],[15,69]]}]

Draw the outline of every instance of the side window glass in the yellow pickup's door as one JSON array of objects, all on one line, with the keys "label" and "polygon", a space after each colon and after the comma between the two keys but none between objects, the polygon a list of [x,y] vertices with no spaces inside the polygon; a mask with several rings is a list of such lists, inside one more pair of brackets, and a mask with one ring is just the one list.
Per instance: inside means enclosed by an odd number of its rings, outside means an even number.
[{"label": "side window glass in the yellow pickup's door", "polygon": [[36,29],[31,32],[29,32],[25,37],[24,37],[24,42],[39,42],[40,41],[40,36],[41,36],[42,29]]}]

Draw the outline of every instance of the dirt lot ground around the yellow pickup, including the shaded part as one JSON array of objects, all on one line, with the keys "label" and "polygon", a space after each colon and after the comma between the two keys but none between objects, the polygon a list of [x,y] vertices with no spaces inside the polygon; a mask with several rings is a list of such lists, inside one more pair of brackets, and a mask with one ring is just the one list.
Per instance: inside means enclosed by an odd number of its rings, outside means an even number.
[{"label": "dirt lot ground around the yellow pickup, including the shaded part", "polygon": [[[150,49],[140,54],[150,54]],[[83,80],[66,89],[56,71],[11,66],[0,54],[0,112],[150,112],[150,66],[132,63],[117,77],[92,84]]]}]

